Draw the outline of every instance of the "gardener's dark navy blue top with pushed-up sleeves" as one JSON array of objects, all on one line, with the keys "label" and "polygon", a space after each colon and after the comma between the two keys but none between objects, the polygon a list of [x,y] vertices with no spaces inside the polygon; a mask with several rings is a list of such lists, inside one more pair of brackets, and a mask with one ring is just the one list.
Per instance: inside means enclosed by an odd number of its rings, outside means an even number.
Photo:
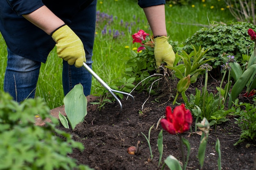
[{"label": "gardener's dark navy blue top with pushed-up sleeves", "polygon": [[[56,43],[22,15],[46,5],[70,26],[92,55],[96,4],[97,0],[0,0],[0,32],[13,53],[45,63]],[[165,0],[138,0],[138,4],[144,8],[165,4]]]}]

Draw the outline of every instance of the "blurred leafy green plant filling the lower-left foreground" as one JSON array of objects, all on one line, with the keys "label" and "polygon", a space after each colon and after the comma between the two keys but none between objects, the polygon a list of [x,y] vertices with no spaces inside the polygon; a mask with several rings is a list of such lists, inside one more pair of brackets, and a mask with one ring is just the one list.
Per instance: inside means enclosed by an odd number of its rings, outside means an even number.
[{"label": "blurred leafy green plant filling the lower-left foreground", "polygon": [[[38,115],[52,123],[36,126]],[[0,92],[0,170],[92,170],[68,157],[74,148],[83,150],[83,144],[56,129],[56,124],[58,120],[42,99],[19,104]]]}]

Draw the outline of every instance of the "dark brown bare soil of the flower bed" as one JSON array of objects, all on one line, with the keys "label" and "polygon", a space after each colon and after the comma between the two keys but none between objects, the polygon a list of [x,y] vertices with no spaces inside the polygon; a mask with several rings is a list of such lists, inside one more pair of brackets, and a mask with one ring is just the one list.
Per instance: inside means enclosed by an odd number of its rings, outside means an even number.
[{"label": "dark brown bare soil of the flower bed", "polygon": [[[215,82],[213,81],[211,84],[214,87],[211,89],[216,89]],[[200,88],[200,84],[198,84],[198,88]],[[194,93],[193,91],[195,88],[191,87],[187,93]],[[168,101],[168,97],[162,98],[159,103],[155,102],[152,97],[146,102],[143,112],[141,112],[148,95],[137,93],[132,93],[132,95],[135,97],[135,103],[132,104],[131,100],[126,100],[126,98],[122,100],[123,111],[120,114],[119,105],[113,103],[106,104],[101,110],[96,110],[95,105],[88,104],[88,115],[85,117],[85,121],[76,126],[74,131],[59,127],[70,132],[76,141],[85,146],[83,152],[74,150],[70,157],[77,159],[79,164],[89,165],[95,170],[161,170],[164,159],[168,155],[173,155],[182,161],[178,135],[170,135],[164,131],[164,154],[160,167],[158,167],[157,137],[162,126],[159,125],[156,129],[156,125],[158,120],[165,115],[166,106],[171,106],[172,109],[175,107],[172,105],[173,98],[171,101]],[[217,138],[221,145],[222,170],[256,169],[255,144],[246,142],[234,146],[240,137],[241,130],[234,123],[234,117],[228,118],[229,121],[219,124],[216,128],[211,127],[203,169],[218,170],[218,154],[215,150]],[[150,159],[150,149],[142,133],[148,137],[149,129],[153,125],[150,133],[153,159]],[[195,130],[194,124],[192,130],[193,132]],[[185,132],[182,136],[191,144],[187,170],[200,169],[197,157],[200,135],[190,135],[189,132]],[[127,148],[136,146],[138,141],[140,141],[139,152],[136,155],[128,154]],[[167,170],[167,166],[164,169]]]}]

